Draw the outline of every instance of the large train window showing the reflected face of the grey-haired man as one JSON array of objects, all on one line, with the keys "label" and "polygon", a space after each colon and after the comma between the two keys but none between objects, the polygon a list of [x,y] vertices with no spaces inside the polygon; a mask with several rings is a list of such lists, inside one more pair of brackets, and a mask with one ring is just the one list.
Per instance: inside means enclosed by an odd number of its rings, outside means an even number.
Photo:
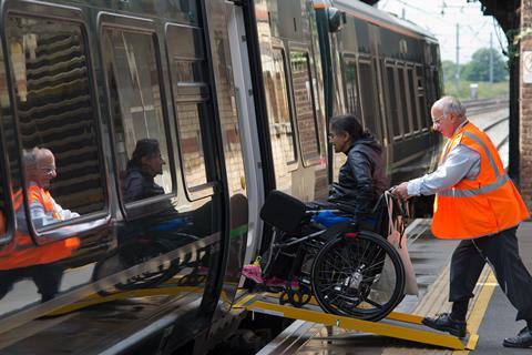
[{"label": "large train window showing the reflected face of the grey-haired man", "polygon": [[33,226],[102,211],[103,161],[82,26],[14,14],[7,22]]}]

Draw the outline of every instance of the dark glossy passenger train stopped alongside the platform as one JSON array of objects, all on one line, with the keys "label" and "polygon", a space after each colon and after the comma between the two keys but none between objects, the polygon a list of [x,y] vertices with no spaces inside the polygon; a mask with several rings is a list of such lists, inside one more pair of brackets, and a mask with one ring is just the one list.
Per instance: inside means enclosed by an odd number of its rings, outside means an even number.
[{"label": "dark glossy passenger train stopped alongside the platform", "polygon": [[[1,11],[0,354],[205,354],[231,336],[247,316],[232,308],[241,270],[270,243],[265,197],[325,199],[337,178],[335,114],[382,143],[390,184],[437,164],[438,41],[362,2]],[[143,140],[160,152],[157,193],[132,200]],[[32,171],[43,151],[55,165]],[[44,190],[75,213],[37,223]]]}]

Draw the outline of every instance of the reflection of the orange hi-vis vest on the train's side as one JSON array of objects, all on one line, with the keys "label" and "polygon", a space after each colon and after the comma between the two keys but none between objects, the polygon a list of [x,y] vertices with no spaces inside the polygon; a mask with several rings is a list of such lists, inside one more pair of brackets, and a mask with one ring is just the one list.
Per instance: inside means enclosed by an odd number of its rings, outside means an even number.
[{"label": "reflection of the orange hi-vis vest on the train's side", "polygon": [[[52,212],[53,201],[48,191],[39,186],[28,189],[28,200],[39,202],[44,206],[45,212]],[[22,191],[13,194],[13,210],[16,213],[23,213]],[[54,215],[55,217],[57,215]],[[65,240],[35,245],[27,233],[16,231],[13,241],[0,251],[0,270],[13,270],[40,264],[50,264],[72,255],[72,252],[80,246],[80,239],[69,237]]]}]

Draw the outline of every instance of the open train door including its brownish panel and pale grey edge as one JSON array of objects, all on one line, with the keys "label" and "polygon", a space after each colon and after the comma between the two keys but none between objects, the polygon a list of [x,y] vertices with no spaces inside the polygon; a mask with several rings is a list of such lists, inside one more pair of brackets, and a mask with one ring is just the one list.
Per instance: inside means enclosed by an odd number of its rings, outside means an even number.
[{"label": "open train door including its brownish panel and pale grey edge", "polygon": [[[229,312],[241,282],[242,266],[252,258],[258,235],[258,210],[263,187],[255,122],[255,108],[247,59],[243,10],[232,1],[206,1],[209,50],[216,82],[219,133],[228,193],[228,219],[219,270],[221,296],[205,343],[231,333]],[[201,343],[201,342],[200,342]],[[198,344],[198,342],[196,342]],[[198,344],[201,346],[201,344]]]}]

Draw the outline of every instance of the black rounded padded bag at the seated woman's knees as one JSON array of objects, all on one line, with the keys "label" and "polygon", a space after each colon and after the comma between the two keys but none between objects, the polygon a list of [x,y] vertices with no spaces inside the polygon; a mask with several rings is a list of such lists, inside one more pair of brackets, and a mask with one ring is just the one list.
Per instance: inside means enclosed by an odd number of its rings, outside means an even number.
[{"label": "black rounded padded bag at the seated woman's knees", "polygon": [[274,190],[260,209],[260,219],[283,232],[296,233],[306,216],[306,210],[301,201]]}]

